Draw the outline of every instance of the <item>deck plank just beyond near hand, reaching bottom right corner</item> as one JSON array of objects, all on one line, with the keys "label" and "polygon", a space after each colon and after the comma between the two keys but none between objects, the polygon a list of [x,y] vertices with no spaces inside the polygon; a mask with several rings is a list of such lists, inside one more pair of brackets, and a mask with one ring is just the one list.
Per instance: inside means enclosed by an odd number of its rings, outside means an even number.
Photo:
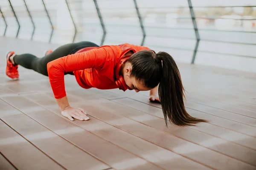
[{"label": "deck plank just beyond near hand, reaching bottom right corner", "polygon": [[[137,115],[136,111],[128,111],[129,108],[127,107],[121,107],[109,100],[100,98],[98,100],[90,100],[87,98],[87,96],[83,96],[81,93],[79,93],[79,91],[77,94],[74,95],[81,95],[81,97],[83,97],[81,98],[82,104],[80,106],[86,108],[87,112],[90,113],[92,116],[96,117],[97,119],[100,119],[104,122],[107,122],[110,125],[121,128],[122,130],[132,133],[133,135],[145,139],[149,142],[162,146],[166,149],[172,150],[173,152],[178,153],[182,156],[186,156],[189,159],[201,162],[202,164],[205,164],[215,169],[225,169],[227,164],[228,166],[232,166],[229,167],[232,169],[254,169],[254,166],[252,165],[222,155],[200,145],[193,144],[186,140],[177,138],[176,136],[167,135],[167,133],[163,133],[159,130],[142,125],[138,122],[134,122],[131,119],[124,118],[126,113],[132,114],[131,117],[141,117]],[[69,99],[70,98],[71,95],[69,96]],[[73,105],[78,105],[78,102],[73,103]],[[101,108],[96,109],[97,105],[100,105]],[[108,112],[107,110],[115,114]],[[108,116],[106,116],[106,114],[108,114]],[[118,116],[117,114],[121,114],[122,116]],[[109,117],[111,117],[111,119],[108,119]],[[119,121],[113,121],[112,119]],[[164,123],[162,125],[164,126]],[[205,157],[205,155],[207,155],[207,158]]]}]

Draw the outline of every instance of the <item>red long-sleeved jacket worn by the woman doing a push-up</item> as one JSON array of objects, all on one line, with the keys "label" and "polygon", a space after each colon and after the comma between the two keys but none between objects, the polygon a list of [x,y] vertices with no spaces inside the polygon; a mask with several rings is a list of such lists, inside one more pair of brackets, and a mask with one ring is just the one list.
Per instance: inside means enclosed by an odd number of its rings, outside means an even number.
[{"label": "red long-sleeved jacket worn by the woman doing a push-up", "polygon": [[72,72],[82,88],[117,88],[114,70],[119,59],[128,51],[134,53],[144,46],[131,44],[104,45],[89,51],[67,55],[47,64],[49,81],[56,99],[66,96],[64,73]]}]

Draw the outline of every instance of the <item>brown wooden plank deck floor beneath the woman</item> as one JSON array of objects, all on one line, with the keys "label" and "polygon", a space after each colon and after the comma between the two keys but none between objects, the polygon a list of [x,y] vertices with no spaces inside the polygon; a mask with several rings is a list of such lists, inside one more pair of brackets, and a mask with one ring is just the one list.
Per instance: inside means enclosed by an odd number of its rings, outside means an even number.
[{"label": "brown wooden plank deck floor beneath the woman", "polygon": [[179,63],[187,110],[210,122],[168,128],[148,92],[84,90],[67,75],[70,104],[90,116],[71,122],[48,77],[20,67],[6,79],[5,52],[32,49],[17,41],[0,49],[1,170],[256,169],[256,74]]}]

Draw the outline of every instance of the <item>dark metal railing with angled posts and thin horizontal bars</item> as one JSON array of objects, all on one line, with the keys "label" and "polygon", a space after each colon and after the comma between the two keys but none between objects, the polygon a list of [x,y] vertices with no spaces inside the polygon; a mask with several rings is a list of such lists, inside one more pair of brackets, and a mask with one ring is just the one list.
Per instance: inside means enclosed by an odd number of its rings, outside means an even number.
[{"label": "dark metal railing with angled posts and thin horizontal bars", "polygon": [[[3,1],[3,0],[2,0]],[[4,28],[4,31],[3,31],[3,34],[2,36],[6,36],[6,32],[8,31],[8,29],[10,28],[8,25],[9,25],[9,22],[7,22],[7,18],[8,17],[13,17],[11,16],[12,14],[14,15],[14,18],[15,18],[15,21],[17,23],[17,32],[16,32],[16,35],[15,37],[18,37],[19,36],[19,32],[20,32],[20,28],[23,27],[22,24],[20,24],[20,21],[19,21],[19,17],[17,16],[17,14],[19,14],[19,11],[15,11],[15,8],[13,7],[13,4],[11,3],[10,0],[6,0],[8,3],[6,4],[9,4],[9,7],[11,9],[11,11],[8,11],[5,9],[2,8],[2,5],[0,5],[0,14],[1,14],[1,17],[2,17],[2,20],[3,20],[3,23],[5,24],[5,28]],[[131,0],[132,1],[132,0]],[[51,15],[49,14],[50,11],[47,9],[47,1],[46,0],[42,0],[41,1],[42,4],[43,4],[43,7],[44,7],[44,11],[46,12],[46,16],[44,17],[47,17],[48,18],[48,21],[49,21],[49,24],[51,26],[51,31],[50,31],[50,35],[49,35],[49,42],[52,42],[52,37],[55,35],[54,34],[54,31],[55,31],[55,24],[56,23],[53,23],[52,22],[52,18],[51,18]],[[115,25],[115,23],[108,23],[106,20],[108,20],[108,17],[104,17],[104,12],[105,10],[114,10],[114,8],[105,8],[105,9],[102,9],[101,6],[100,6],[100,3],[102,1],[97,1],[97,0],[91,0],[91,2],[89,2],[88,0],[86,1],[83,1],[83,0],[79,0],[79,1],[72,1],[72,0],[63,0],[63,3],[65,3],[67,5],[67,12],[69,13],[70,15],[70,18],[71,18],[71,21],[72,23],[68,23],[68,24],[73,24],[73,28],[74,30],[70,30],[70,31],[73,31],[73,39],[72,39],[72,42],[75,42],[76,41],[76,36],[78,35],[78,33],[81,33],[83,34],[83,30],[84,29],[87,29],[87,30],[90,30],[90,22],[94,22],[93,19],[91,18],[94,18],[99,20],[99,23],[100,23],[100,26],[101,26],[101,29],[102,29],[102,37],[101,37],[101,41],[100,41],[100,45],[104,45],[104,43],[106,42],[106,36],[108,35],[113,35],[115,34],[116,37],[118,37],[118,35],[121,35],[122,33],[118,34],[118,33],[111,33],[111,31],[108,31],[108,27],[109,26],[113,26],[115,28],[118,28],[121,30],[122,32],[122,29],[123,28],[127,28],[129,29],[130,28],[134,28],[134,29],[137,29],[137,28],[140,28],[141,32],[140,33],[133,33],[131,32],[130,36],[142,36],[142,40],[140,40],[140,42],[137,42],[137,45],[147,45],[148,42],[146,41],[147,37],[158,37],[158,38],[166,38],[166,39],[170,39],[170,40],[180,40],[180,41],[184,41],[186,42],[186,40],[195,40],[195,46],[193,48],[193,50],[191,50],[190,48],[188,48],[186,45],[182,46],[180,45],[180,47],[176,47],[176,46],[165,46],[165,45],[161,45],[159,44],[159,42],[156,42],[154,45],[154,47],[158,47],[160,48],[161,46],[163,46],[164,48],[170,48],[170,49],[176,49],[176,50],[180,50],[180,51],[183,51],[183,50],[186,50],[186,51],[192,51],[192,59],[191,59],[191,63],[194,64],[195,63],[195,59],[196,59],[196,56],[197,56],[197,53],[198,51],[201,51],[201,52],[204,52],[204,53],[214,53],[214,54],[223,54],[223,55],[233,55],[233,56],[238,56],[238,57],[250,57],[250,58],[255,58],[256,56],[253,56],[253,54],[228,54],[226,52],[223,52],[223,51],[207,51],[207,50],[201,50],[199,48],[200,44],[202,42],[212,42],[212,43],[227,43],[228,45],[231,45],[231,44],[238,44],[238,45],[256,45],[256,41],[253,41],[253,40],[250,40],[248,42],[245,42],[245,41],[241,41],[239,42],[238,40],[216,40],[214,38],[212,39],[207,39],[207,38],[204,38],[201,36],[201,31],[206,31],[206,32],[209,32],[209,34],[214,34],[213,32],[215,33],[224,33],[226,32],[227,34],[228,33],[232,33],[232,32],[237,32],[237,33],[245,33],[245,34],[253,34],[253,35],[256,35],[256,28],[254,30],[232,30],[232,29],[227,29],[227,30],[224,30],[224,29],[214,29],[214,28],[201,28],[200,26],[198,26],[198,20],[216,20],[216,19],[224,19],[224,20],[229,20],[228,18],[221,18],[221,17],[202,17],[202,16],[196,16],[196,12],[195,12],[195,8],[246,8],[246,7],[249,7],[249,8],[256,8],[256,6],[196,6],[196,7],[193,7],[193,4],[192,4],[192,1],[191,0],[187,0],[187,4],[186,6],[181,6],[181,7],[168,7],[168,6],[163,6],[161,7],[162,9],[180,9],[181,11],[182,10],[186,10],[188,9],[189,11],[189,15],[190,17],[176,17],[175,20],[178,20],[178,22],[182,23],[183,20],[191,20],[191,23],[192,23],[192,27],[191,28],[188,28],[188,27],[172,27],[172,26],[151,26],[151,25],[148,25],[145,23],[145,16],[143,16],[143,13],[142,13],[142,10],[145,11],[145,8],[140,8],[140,6],[138,5],[137,3],[137,0],[133,0],[132,3],[134,3],[134,13],[132,14],[127,14],[132,22],[135,22],[133,21],[134,19],[134,14],[136,14],[136,17],[138,19],[138,22],[136,21],[134,25],[129,25],[129,24],[125,24],[125,26],[122,26],[122,23],[119,24],[119,25]],[[23,0],[23,3],[24,3],[24,7],[26,8],[26,12],[28,14],[28,17],[32,23],[32,32],[31,32],[31,40],[33,40],[33,37],[35,35],[35,30],[36,28],[38,28],[38,26],[36,26],[35,24],[35,20],[34,20],[34,17],[33,17],[33,14],[32,12],[30,12],[32,9],[28,8],[27,6],[27,3],[26,0]],[[86,15],[81,15],[80,19],[79,17],[77,17],[77,15],[79,14],[76,14],[74,11],[76,11],[77,13],[79,12],[79,10],[74,10],[74,4],[75,3],[78,3],[80,5],[81,8],[86,8],[85,10],[81,10],[81,12],[88,12],[90,13],[92,10],[95,10],[96,11],[96,14],[94,14],[93,12],[91,12],[93,14],[92,17],[90,16],[86,16]],[[84,3],[90,3],[90,8],[88,8],[87,6],[84,7]],[[4,6],[3,6],[4,7]],[[111,7],[111,5],[109,6]],[[94,9],[93,9],[94,8]],[[129,7],[125,10],[132,10],[132,7]],[[148,7],[146,9],[155,9],[155,7]],[[256,9],[255,9],[256,10]],[[34,12],[35,14],[36,12]],[[36,14],[35,14],[36,15]],[[109,14],[108,16],[112,16],[112,13]],[[84,19],[85,18],[85,19]],[[91,20],[90,22],[88,21],[85,21],[85,24],[84,24],[84,21],[82,22],[78,22],[78,20]],[[256,21],[256,18],[234,18],[234,20],[237,20],[237,21]],[[129,22],[129,20],[127,21]],[[93,23],[94,25],[96,23]],[[93,24],[91,24],[91,26],[93,26]],[[255,23],[254,23],[255,24]],[[97,24],[96,24],[97,25]],[[254,25],[255,26],[255,25]],[[195,32],[195,37],[194,36],[189,36],[189,37],[186,37],[186,36],[180,36],[179,34],[177,35],[151,35],[149,32],[150,29],[157,29],[157,28],[164,28],[164,29],[168,29],[168,30],[174,30],[174,31],[180,31],[180,30],[193,30]],[[92,34],[96,34],[95,30],[90,30],[92,31]],[[90,34],[90,32],[89,32]],[[164,34],[164,33],[163,33]],[[128,34],[127,34],[128,35]],[[92,35],[93,36],[93,35]],[[129,36],[129,35],[128,35]],[[113,40],[111,38],[107,38],[108,41],[113,41],[113,42],[120,42],[120,40]],[[180,42],[181,43],[181,42]]]}]

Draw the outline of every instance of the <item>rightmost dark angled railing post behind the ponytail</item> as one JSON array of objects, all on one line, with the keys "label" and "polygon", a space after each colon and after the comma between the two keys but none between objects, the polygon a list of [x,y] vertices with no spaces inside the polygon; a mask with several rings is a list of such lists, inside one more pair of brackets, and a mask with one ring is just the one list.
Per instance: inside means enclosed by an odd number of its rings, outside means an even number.
[{"label": "rightmost dark angled railing post behind the ponytail", "polygon": [[193,54],[192,61],[191,61],[191,64],[194,64],[196,53],[198,51],[198,45],[199,45],[200,37],[199,37],[199,33],[198,33],[198,27],[197,27],[197,24],[196,24],[196,21],[195,21],[195,13],[194,13],[194,10],[193,10],[191,0],[188,0],[188,3],[189,3],[189,10],[190,10],[194,30],[195,30],[195,37],[196,37],[196,44],[195,44],[194,54]]}]

